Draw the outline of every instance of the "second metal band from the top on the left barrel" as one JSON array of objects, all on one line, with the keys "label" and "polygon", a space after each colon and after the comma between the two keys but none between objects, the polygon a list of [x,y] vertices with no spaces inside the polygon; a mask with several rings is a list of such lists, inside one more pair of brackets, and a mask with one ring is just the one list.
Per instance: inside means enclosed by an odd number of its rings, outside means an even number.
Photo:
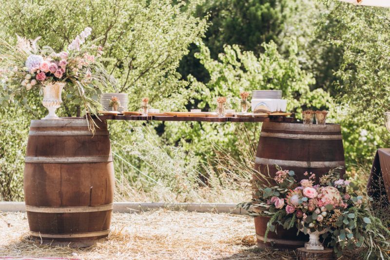
[{"label": "second metal band from the top on the left barrel", "polygon": [[49,156],[26,156],[26,163],[47,163],[47,164],[74,164],[74,163],[103,163],[112,162],[112,155],[96,156],[74,156],[74,157],[49,157]]}]

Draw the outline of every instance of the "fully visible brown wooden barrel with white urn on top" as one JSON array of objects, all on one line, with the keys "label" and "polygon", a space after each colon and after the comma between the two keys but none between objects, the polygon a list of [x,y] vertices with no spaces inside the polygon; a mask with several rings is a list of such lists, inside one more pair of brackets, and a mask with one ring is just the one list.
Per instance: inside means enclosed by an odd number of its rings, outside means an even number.
[{"label": "fully visible brown wooden barrel with white urn on top", "polygon": [[32,120],[24,167],[31,235],[85,247],[108,236],[114,165],[106,121],[95,135],[83,118]]}]

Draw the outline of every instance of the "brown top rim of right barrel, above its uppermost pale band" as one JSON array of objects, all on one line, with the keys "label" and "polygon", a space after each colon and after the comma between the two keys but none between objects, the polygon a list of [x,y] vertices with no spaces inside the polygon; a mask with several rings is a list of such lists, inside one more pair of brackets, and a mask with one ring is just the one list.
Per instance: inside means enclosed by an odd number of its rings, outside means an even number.
[{"label": "brown top rim of right barrel, above its uppermost pale band", "polygon": [[314,132],[341,132],[339,124],[301,124],[301,123],[280,123],[264,122],[261,130],[292,130],[292,131],[314,131]]}]

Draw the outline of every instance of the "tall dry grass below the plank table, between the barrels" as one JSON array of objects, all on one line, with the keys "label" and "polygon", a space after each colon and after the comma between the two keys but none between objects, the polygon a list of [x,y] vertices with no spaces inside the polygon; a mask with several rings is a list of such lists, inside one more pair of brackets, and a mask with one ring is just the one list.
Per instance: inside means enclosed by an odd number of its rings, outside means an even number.
[{"label": "tall dry grass below the plank table, between the barrels", "polygon": [[[131,125],[128,125],[131,127]],[[133,141],[112,141],[116,201],[238,203],[250,196],[255,145],[241,127],[233,158],[218,144],[214,156],[200,161],[181,147],[165,146],[147,126],[131,127]]]}]

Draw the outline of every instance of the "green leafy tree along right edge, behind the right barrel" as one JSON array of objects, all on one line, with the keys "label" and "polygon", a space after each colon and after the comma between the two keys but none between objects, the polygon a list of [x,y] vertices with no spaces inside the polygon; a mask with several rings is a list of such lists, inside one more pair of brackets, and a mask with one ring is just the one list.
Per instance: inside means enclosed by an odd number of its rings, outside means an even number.
[{"label": "green leafy tree along right edge, behind the right barrel", "polygon": [[[347,162],[368,163],[378,147],[388,147],[383,112],[390,109],[390,11],[327,1],[317,25],[324,45],[338,50],[334,89],[342,103]],[[361,136],[361,131],[368,134]]]}]

